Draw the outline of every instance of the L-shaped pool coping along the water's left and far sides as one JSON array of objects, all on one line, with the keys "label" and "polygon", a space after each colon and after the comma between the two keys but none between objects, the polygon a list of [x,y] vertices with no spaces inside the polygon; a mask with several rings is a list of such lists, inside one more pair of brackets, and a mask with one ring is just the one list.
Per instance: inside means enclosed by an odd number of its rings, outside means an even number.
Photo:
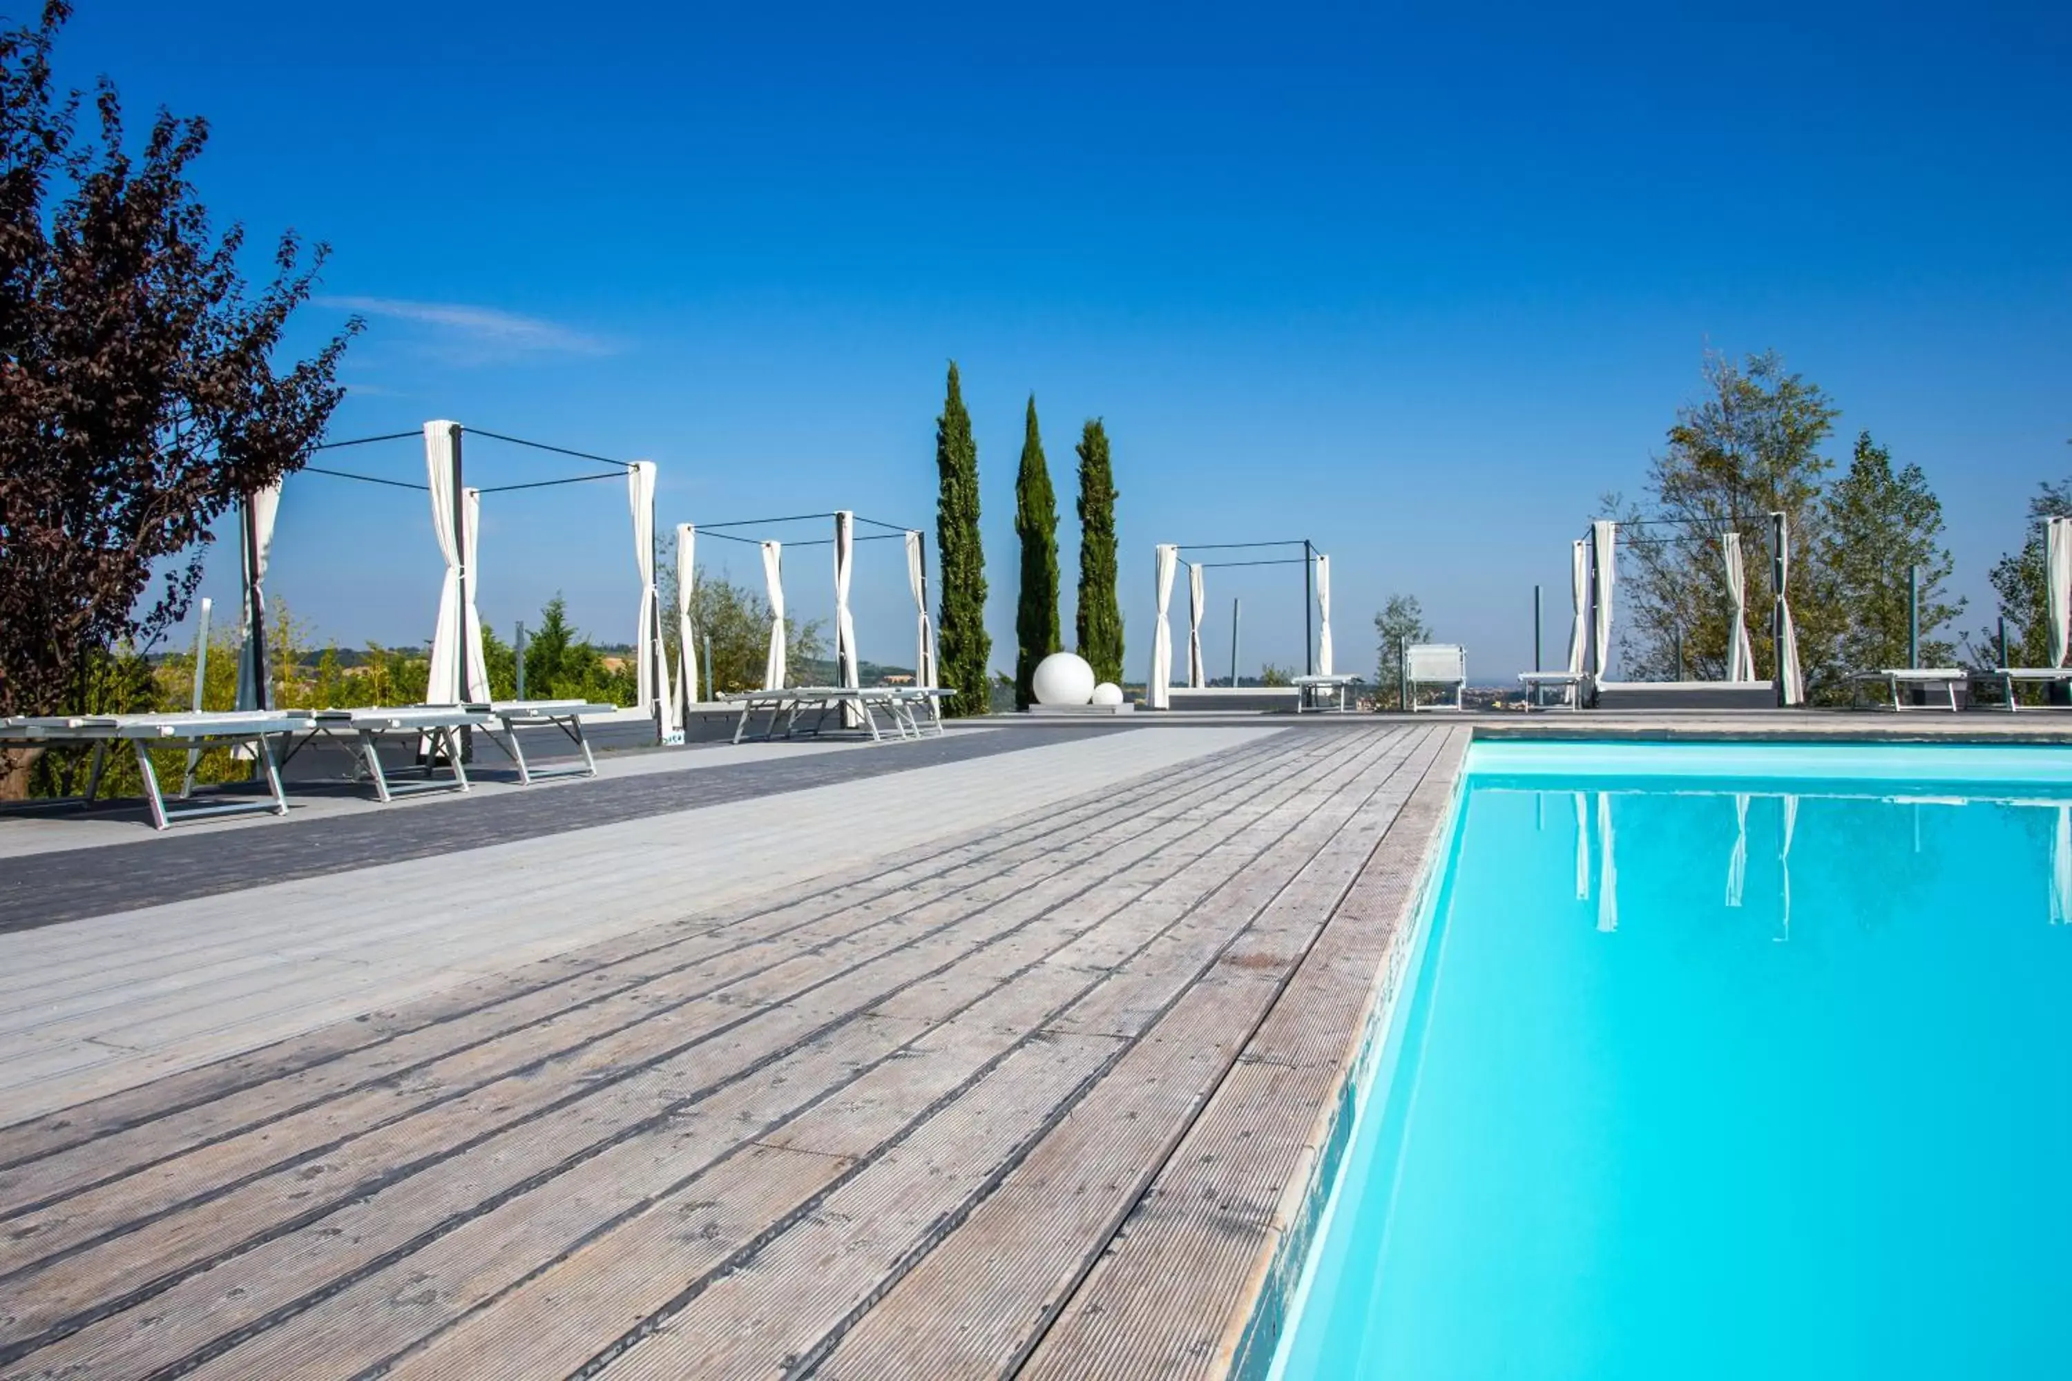
[{"label": "L-shaped pool coping along the water's left and far sides", "polygon": [[[1376,965],[1374,981],[1361,1000],[1359,1017],[1347,1037],[1345,1054],[1324,1106],[1316,1112],[1301,1157],[1293,1166],[1274,1205],[1268,1240],[1254,1257],[1243,1290],[1233,1302],[1218,1338],[1210,1375],[1233,1381],[1264,1381],[1272,1373],[1291,1304],[1301,1288],[1303,1267],[1316,1246],[1316,1232],[1330,1203],[1332,1186],[1351,1149],[1359,1114],[1359,1091],[1365,1087],[1386,1046],[1397,998],[1417,950],[1417,930],[1423,907],[1438,884],[1438,859],[1446,857],[1448,841],[1459,828],[1461,801],[1467,791],[1467,758],[1477,741],[1539,739],[1554,743],[1927,743],[1927,745],[2064,745],[2072,743],[2072,725],[2010,723],[2002,729],[1977,725],[1912,727],[1900,723],[1811,725],[1776,721],[1763,714],[1747,721],[1716,718],[1707,723],[1670,725],[1660,721],[1606,721],[1577,716],[1581,723],[1537,721],[1508,725],[1457,725],[1467,735],[1452,737],[1423,781],[1411,791],[1397,826],[1382,836],[1361,870],[1361,886],[1390,888],[1407,878],[1392,911],[1386,913],[1388,940]],[[2010,716],[2012,718],[2012,716]],[[1409,828],[1405,828],[1409,826]],[[1347,901],[1351,894],[1347,897]],[[1341,903],[1343,907],[1345,903]]]}]

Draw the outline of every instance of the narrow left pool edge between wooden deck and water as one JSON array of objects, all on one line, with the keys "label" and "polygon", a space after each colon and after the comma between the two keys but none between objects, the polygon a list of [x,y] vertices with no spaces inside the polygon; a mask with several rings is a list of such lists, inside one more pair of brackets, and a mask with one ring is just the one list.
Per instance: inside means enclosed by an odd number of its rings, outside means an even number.
[{"label": "narrow left pool edge between wooden deck and water", "polygon": [[1440,880],[1438,863],[1459,822],[1469,745],[1471,735],[1448,737],[1361,868],[1361,882],[1378,874],[1380,888],[1407,874],[1407,886],[1386,919],[1388,948],[1376,967],[1359,1021],[1347,1037],[1330,1093],[1274,1205],[1270,1238],[1254,1257],[1231,1321],[1216,1342],[1208,1375],[1262,1381],[1272,1371],[1289,1304],[1301,1284],[1310,1251],[1316,1246],[1318,1222],[1351,1145],[1359,1089],[1368,1085],[1368,1075],[1382,1054],[1388,1021],[1409,973],[1409,957],[1417,948],[1417,915]]}]

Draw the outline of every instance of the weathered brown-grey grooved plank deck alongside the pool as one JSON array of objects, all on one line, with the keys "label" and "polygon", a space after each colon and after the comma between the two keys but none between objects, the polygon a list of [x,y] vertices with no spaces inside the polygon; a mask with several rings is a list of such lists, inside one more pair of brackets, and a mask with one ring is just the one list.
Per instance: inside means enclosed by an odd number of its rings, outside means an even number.
[{"label": "weathered brown-grey grooved plank deck alongside the pool", "polygon": [[0,1126],[0,1377],[1220,1375],[1467,735],[1249,737]]}]

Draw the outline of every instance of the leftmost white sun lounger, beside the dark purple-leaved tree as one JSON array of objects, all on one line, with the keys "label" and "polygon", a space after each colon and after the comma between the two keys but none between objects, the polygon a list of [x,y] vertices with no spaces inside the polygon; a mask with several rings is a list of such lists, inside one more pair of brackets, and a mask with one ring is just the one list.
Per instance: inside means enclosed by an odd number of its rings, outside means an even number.
[{"label": "leftmost white sun lounger, beside the dark purple-leaved tree", "polygon": [[[87,772],[87,805],[93,805],[99,795],[110,743],[128,743],[137,752],[137,770],[143,776],[143,797],[151,810],[151,826],[164,830],[174,820],[201,820],[205,816],[240,816],[261,810],[286,816],[288,797],[280,789],[280,764],[274,758],[271,739],[274,735],[300,733],[309,725],[311,716],[305,710],[17,716],[0,725],[0,741],[46,747],[52,743],[93,743],[93,766]],[[203,805],[170,805],[147,752],[153,743],[180,747],[249,743],[265,770],[267,795],[228,801],[211,797]],[[174,799],[186,801],[189,797],[182,791]]]}]

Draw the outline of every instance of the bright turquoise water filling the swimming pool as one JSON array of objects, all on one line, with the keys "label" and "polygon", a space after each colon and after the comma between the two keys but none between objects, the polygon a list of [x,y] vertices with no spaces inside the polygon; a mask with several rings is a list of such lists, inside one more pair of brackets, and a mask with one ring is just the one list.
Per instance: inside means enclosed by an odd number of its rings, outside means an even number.
[{"label": "bright turquoise water filling the swimming pool", "polygon": [[2072,1375],[2072,754],[1475,745],[1287,1377]]}]

